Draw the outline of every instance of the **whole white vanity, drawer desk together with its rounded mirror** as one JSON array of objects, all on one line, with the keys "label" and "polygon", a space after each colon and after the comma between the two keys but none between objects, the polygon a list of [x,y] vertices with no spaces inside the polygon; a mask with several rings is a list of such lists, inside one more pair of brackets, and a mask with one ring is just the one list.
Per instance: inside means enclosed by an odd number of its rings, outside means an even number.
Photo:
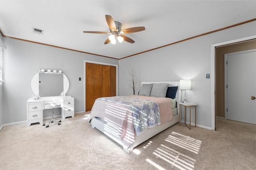
[{"label": "whole white vanity, drawer desk together with its rounded mirror", "polygon": [[[41,69],[44,70],[44,69]],[[32,91],[36,96],[39,94],[42,94],[43,92],[49,92],[50,90],[53,90],[50,93],[56,92],[55,95],[59,95],[62,93],[62,96],[50,96],[49,97],[40,97],[39,100],[36,100],[36,98],[29,98],[27,100],[27,125],[30,126],[31,123],[40,123],[43,124],[43,110],[47,109],[45,106],[48,104],[59,104],[61,111],[60,116],[62,119],[66,119],[66,117],[74,117],[74,98],[71,96],[65,96],[66,92],[68,92],[69,88],[69,81],[68,78],[65,76],[65,74],[61,73],[58,74],[49,74],[52,72],[46,72],[41,71],[40,74],[37,73],[31,81],[31,88]],[[58,74],[58,75],[57,75]],[[51,78],[47,82],[47,78],[50,76],[61,76],[60,78],[54,77]],[[54,82],[56,80],[56,82]],[[49,85],[50,87],[45,86]],[[54,85],[55,87],[54,87]],[[42,85],[44,85],[42,87]],[[47,90],[45,90],[47,89]],[[39,93],[40,92],[40,93]]]}]

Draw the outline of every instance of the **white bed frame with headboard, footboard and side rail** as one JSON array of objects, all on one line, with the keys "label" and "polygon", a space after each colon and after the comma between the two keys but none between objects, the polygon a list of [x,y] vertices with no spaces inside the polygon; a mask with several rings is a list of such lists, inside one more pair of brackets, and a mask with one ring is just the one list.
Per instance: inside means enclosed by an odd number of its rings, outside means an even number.
[{"label": "white bed frame with headboard, footboard and side rail", "polygon": [[[179,86],[180,82],[142,82],[141,84],[151,84],[151,83],[169,83],[169,87],[170,87],[170,86]],[[176,94],[176,102],[177,102],[176,110],[177,110],[177,115],[175,115],[171,121],[168,121],[168,122],[163,123],[161,125],[158,125],[156,127],[147,129],[146,131],[144,131],[139,136],[136,136],[135,137],[135,142],[130,147],[128,147],[128,148],[122,143],[122,140],[120,139],[120,137],[118,137],[118,135],[112,135],[111,133],[108,133],[105,130],[106,126],[110,127],[110,125],[108,125],[108,123],[106,123],[102,119],[93,118],[91,120],[92,127],[93,128],[95,127],[96,129],[100,130],[102,133],[104,133],[105,135],[107,135],[108,137],[110,137],[111,139],[116,141],[117,143],[119,143],[123,147],[123,149],[126,152],[129,153],[129,152],[131,152],[133,150],[134,147],[140,145],[144,141],[150,139],[151,137],[155,136],[156,134],[164,131],[168,127],[171,127],[172,125],[174,125],[174,124],[179,122],[179,107],[178,107],[178,103],[180,101],[181,101],[180,88],[178,88],[177,94]],[[114,128],[114,127],[110,127],[110,128],[112,128],[113,131],[116,131],[116,134],[117,134],[117,129],[116,128]]]}]

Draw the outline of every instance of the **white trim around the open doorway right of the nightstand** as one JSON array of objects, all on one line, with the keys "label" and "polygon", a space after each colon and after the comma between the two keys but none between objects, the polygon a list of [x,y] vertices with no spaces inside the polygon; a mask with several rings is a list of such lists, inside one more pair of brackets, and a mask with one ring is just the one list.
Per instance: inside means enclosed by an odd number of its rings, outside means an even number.
[{"label": "white trim around the open doorway right of the nightstand", "polygon": [[215,48],[221,45],[227,45],[227,44],[232,44],[232,43],[238,43],[241,41],[247,41],[247,40],[251,40],[251,39],[256,39],[256,35],[252,35],[249,37],[244,37],[244,38],[240,38],[240,39],[234,39],[231,41],[225,41],[222,43],[217,43],[217,44],[212,44],[212,86],[211,86],[211,98],[212,98],[212,130],[215,131],[216,128],[216,113],[215,113],[215,82],[216,82],[216,75],[215,75],[215,58],[216,58],[216,51]]}]

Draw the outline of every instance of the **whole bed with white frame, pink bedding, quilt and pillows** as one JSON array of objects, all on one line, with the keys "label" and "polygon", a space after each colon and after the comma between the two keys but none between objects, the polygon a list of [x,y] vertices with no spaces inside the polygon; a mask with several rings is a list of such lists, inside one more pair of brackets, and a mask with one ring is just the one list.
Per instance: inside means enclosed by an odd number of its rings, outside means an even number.
[{"label": "whole bed with white frame, pink bedding, quilt and pillows", "polygon": [[134,147],[179,122],[179,82],[141,84],[138,95],[98,98],[94,102],[89,118],[93,128],[102,131],[128,153]]}]

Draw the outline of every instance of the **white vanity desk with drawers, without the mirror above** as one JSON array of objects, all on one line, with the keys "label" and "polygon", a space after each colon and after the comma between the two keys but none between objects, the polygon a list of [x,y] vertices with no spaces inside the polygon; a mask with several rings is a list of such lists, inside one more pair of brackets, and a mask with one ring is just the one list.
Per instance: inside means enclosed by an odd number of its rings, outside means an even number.
[{"label": "white vanity desk with drawers, without the mirror above", "polygon": [[62,119],[66,117],[74,117],[74,98],[71,96],[50,96],[41,97],[40,100],[29,98],[27,101],[27,125],[31,123],[43,124],[43,110],[47,104],[60,104],[60,116]]}]

